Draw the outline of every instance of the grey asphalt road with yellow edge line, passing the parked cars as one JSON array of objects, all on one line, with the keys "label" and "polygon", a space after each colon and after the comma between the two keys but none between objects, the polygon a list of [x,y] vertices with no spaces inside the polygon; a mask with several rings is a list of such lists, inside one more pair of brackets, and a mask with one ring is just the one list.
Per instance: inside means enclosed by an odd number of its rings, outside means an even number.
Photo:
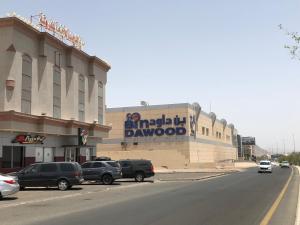
[{"label": "grey asphalt road with yellow edge line, passing the parked cars", "polygon": [[[143,183],[8,208],[0,204],[1,225],[256,225],[290,173],[275,168],[273,174],[258,174],[250,169],[202,181]],[[290,210],[281,204],[283,209],[275,213],[291,219],[280,225],[293,221],[296,176],[282,201]]]}]

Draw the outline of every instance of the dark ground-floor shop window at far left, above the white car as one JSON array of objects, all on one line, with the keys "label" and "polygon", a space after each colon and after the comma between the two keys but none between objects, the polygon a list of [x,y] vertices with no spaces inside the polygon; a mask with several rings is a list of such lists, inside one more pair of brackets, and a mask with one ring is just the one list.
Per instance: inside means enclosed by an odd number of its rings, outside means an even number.
[{"label": "dark ground-floor shop window at far left, above the white car", "polygon": [[2,168],[22,167],[24,162],[24,148],[18,146],[3,146]]}]

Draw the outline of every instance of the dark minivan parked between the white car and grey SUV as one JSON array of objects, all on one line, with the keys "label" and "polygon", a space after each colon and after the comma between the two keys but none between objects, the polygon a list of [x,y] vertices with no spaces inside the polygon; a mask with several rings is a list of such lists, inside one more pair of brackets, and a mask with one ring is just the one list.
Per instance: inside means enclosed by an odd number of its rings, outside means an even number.
[{"label": "dark minivan parked between the white car and grey SUV", "polygon": [[15,175],[20,189],[57,186],[64,191],[83,182],[82,169],[77,162],[35,163]]}]

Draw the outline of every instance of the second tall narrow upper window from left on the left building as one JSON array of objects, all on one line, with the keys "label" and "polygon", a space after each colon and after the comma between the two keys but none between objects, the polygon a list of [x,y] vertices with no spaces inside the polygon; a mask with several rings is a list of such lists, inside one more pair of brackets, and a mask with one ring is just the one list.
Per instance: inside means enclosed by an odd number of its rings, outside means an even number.
[{"label": "second tall narrow upper window from left on the left building", "polygon": [[53,68],[53,117],[61,118],[61,73],[56,66]]}]

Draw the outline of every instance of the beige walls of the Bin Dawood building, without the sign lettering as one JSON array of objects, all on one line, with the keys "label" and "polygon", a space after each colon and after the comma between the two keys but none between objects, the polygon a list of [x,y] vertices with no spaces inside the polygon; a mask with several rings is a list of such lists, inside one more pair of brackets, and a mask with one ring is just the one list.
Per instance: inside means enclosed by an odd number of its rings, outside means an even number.
[{"label": "beige walls of the Bin Dawood building, without the sign lettering", "polygon": [[[183,136],[124,137],[124,122],[127,113],[138,112],[141,119],[157,119],[165,114],[186,117]],[[189,104],[171,104],[148,107],[114,108],[106,111],[107,124],[112,126],[109,138],[97,145],[97,156],[113,159],[144,158],[153,161],[156,167],[184,168],[193,166],[217,166],[236,159],[236,148],[232,146],[231,128],[216,120],[214,126],[207,113],[201,112],[196,137],[191,135],[190,116],[194,112]],[[164,125],[167,128],[170,125]],[[174,126],[174,124],[173,124]],[[209,129],[209,135],[202,134],[202,126]],[[216,132],[221,133],[221,138]],[[229,136],[229,139],[226,139]],[[121,144],[123,142],[123,144]]]}]

